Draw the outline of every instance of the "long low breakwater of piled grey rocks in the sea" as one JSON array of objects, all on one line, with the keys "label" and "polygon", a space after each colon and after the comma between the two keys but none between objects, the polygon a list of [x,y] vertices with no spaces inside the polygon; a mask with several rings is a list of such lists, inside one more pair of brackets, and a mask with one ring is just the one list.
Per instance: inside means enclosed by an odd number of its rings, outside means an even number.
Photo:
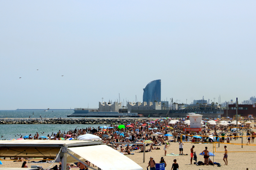
[{"label": "long low breakwater of piled grey rocks in the sea", "polygon": [[[143,118],[140,118],[143,120]],[[144,120],[148,120],[145,119]],[[138,121],[138,118],[42,118],[42,119],[0,119],[0,124],[123,124]]]}]

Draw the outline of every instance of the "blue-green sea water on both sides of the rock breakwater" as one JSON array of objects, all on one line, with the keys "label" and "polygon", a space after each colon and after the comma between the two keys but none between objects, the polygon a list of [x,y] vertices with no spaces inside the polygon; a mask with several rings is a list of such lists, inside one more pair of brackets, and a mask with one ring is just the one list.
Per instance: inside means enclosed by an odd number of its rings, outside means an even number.
[{"label": "blue-green sea water on both sides of the rock breakwater", "polygon": [[[67,115],[74,113],[70,109],[18,109],[0,110],[0,118],[67,118]],[[52,112],[53,111],[53,112]],[[71,117],[72,118],[72,117]],[[79,117],[75,117],[79,118]],[[18,139],[22,135],[32,135],[39,133],[39,136],[51,136],[52,133],[67,132],[69,130],[85,129],[88,127],[109,126],[109,124],[0,124],[0,140]]]}]

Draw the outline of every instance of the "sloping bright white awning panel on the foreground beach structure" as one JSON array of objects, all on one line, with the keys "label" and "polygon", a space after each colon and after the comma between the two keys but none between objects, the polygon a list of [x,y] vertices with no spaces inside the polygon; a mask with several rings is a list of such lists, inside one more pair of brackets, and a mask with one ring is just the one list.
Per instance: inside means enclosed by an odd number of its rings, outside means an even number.
[{"label": "sloping bright white awning panel on the foreground beach structure", "polygon": [[[141,166],[133,162],[130,158],[122,153],[106,146],[106,145],[94,145],[86,147],[73,147],[68,148],[68,152],[73,154],[80,160],[88,160],[91,164],[96,165],[102,170],[141,170]],[[73,159],[70,155],[67,155],[67,163]]]}]

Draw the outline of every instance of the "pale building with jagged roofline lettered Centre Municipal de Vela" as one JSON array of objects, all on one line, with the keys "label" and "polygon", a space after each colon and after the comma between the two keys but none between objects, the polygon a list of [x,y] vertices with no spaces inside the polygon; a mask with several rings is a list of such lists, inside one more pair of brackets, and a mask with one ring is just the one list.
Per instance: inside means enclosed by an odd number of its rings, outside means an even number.
[{"label": "pale building with jagged roofline lettered Centre Municipal de Vela", "polygon": [[161,110],[161,102],[127,102],[127,111],[131,113],[132,109],[136,110]]}]

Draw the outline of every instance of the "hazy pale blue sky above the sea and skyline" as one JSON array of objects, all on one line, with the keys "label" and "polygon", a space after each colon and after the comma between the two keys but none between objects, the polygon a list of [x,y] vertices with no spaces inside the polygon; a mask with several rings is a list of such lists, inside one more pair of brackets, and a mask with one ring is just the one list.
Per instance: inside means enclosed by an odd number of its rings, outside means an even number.
[{"label": "hazy pale blue sky above the sea and skyline", "polygon": [[[0,109],[256,96],[256,1],[1,1]],[[63,76],[62,76],[63,75]],[[21,77],[21,78],[20,78]]]}]

